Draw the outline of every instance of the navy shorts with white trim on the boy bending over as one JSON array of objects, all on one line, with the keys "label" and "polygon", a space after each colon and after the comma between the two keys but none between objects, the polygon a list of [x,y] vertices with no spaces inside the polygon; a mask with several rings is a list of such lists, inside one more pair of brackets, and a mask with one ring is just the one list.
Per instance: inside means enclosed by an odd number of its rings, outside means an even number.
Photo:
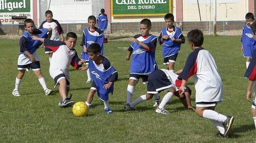
[{"label": "navy shorts with white trim on the boy bending over", "polygon": [[155,70],[148,77],[147,93],[156,94],[166,89],[173,88],[174,85],[167,78],[163,70]]}]

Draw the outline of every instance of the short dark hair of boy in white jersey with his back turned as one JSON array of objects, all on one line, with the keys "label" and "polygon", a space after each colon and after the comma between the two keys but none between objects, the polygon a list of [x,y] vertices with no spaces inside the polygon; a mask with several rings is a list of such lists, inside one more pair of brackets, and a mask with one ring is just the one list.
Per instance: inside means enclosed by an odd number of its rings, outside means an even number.
[{"label": "short dark hair of boy in white jersey with his back turned", "polygon": [[193,29],[187,33],[187,39],[194,46],[201,46],[203,45],[203,32],[199,29]]}]

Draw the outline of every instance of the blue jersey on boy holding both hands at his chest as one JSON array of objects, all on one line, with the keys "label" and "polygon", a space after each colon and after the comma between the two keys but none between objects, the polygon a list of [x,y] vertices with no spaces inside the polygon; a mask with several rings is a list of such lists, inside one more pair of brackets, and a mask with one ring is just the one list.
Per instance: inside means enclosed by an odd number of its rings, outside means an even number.
[{"label": "blue jersey on boy holding both hands at his chest", "polygon": [[159,43],[161,43],[161,38],[163,35],[169,35],[169,39],[163,40],[163,57],[169,57],[174,54],[178,54],[181,43],[174,42],[171,40],[171,38],[179,39],[181,36],[183,36],[181,30],[179,27],[173,27],[173,32],[168,31],[168,27],[165,27],[162,29],[161,34],[159,36]]}]

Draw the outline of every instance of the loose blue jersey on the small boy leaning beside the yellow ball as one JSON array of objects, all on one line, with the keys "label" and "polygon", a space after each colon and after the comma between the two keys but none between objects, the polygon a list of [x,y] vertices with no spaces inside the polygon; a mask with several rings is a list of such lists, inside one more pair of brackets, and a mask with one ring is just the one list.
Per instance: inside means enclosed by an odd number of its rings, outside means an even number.
[{"label": "loose blue jersey on the small boy leaning beside the yellow ball", "polygon": [[[107,58],[103,57],[103,60],[107,60]],[[109,93],[113,94],[114,82],[110,86],[109,89],[105,89],[103,86],[106,85],[107,83],[109,83],[109,81],[110,81],[109,78],[112,75],[117,74],[117,71],[111,65],[109,66],[108,69],[106,69],[104,71],[99,70],[96,63],[94,61],[92,61],[91,59],[89,59],[89,69],[90,69],[91,78],[97,86],[98,97],[103,101],[108,100],[109,99]],[[117,78],[117,76],[115,76],[115,77]],[[112,79],[112,80],[116,81],[117,79]]]}]

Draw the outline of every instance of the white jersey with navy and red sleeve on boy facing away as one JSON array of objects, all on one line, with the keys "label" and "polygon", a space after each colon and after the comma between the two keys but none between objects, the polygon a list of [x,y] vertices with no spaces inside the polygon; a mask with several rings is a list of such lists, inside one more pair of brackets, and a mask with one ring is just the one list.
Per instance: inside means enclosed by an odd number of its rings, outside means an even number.
[{"label": "white jersey with navy and red sleeve on boy facing away", "polygon": [[195,102],[216,102],[224,99],[223,85],[210,52],[197,48],[188,55],[183,72],[178,79],[194,77]]}]

